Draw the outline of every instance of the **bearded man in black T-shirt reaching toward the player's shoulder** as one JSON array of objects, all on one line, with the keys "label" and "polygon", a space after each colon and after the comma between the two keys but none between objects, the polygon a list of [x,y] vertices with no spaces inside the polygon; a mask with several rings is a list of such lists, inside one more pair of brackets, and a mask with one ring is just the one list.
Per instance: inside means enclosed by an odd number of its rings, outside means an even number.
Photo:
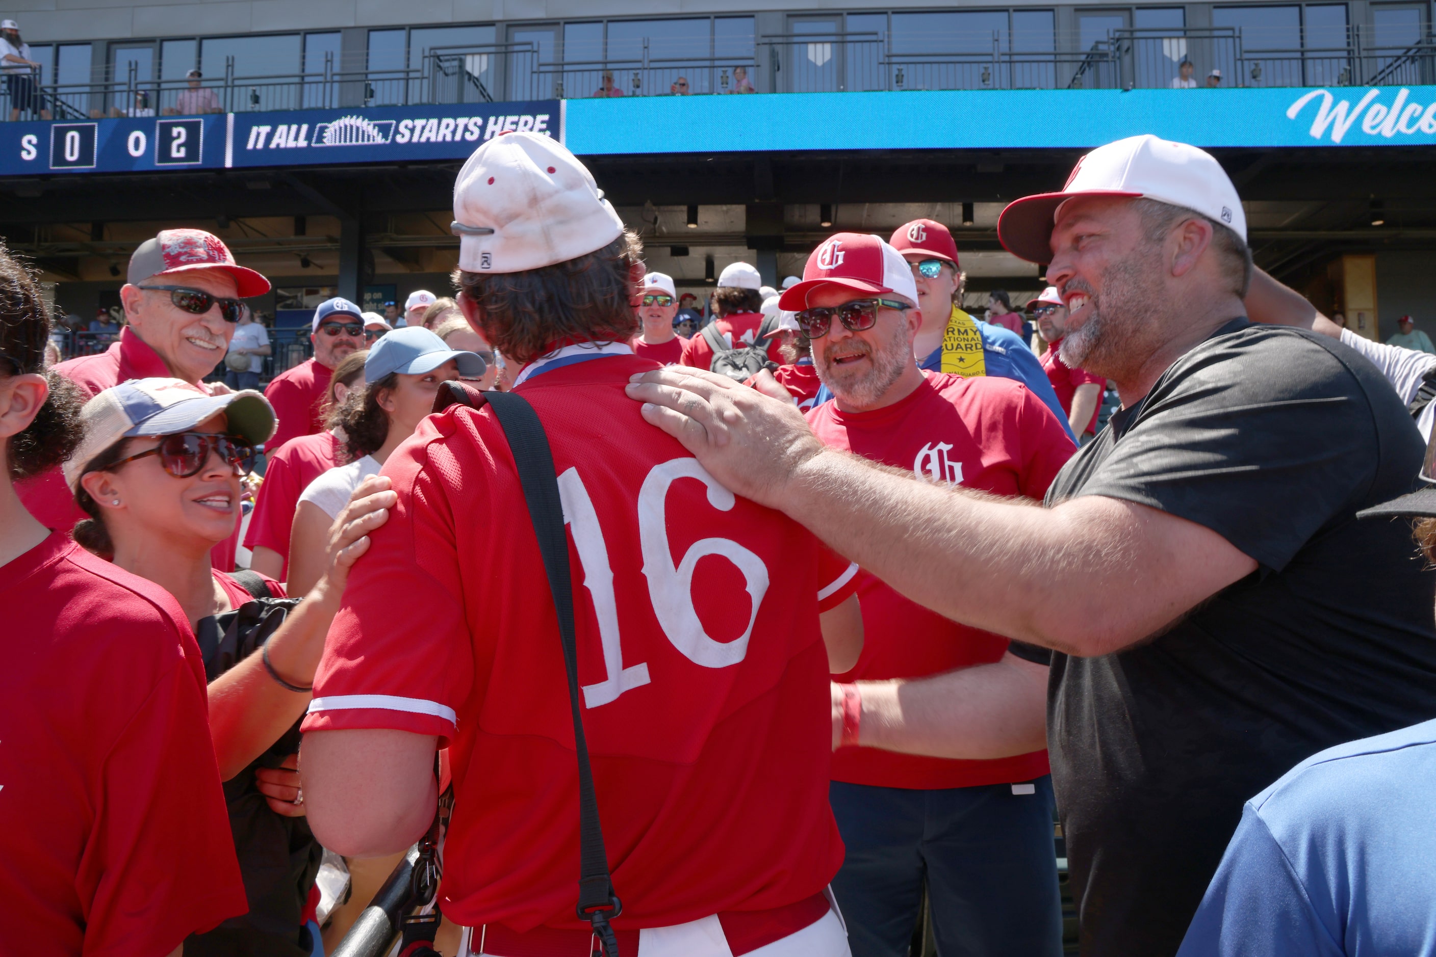
[{"label": "bearded man in black T-shirt reaching toward the player's shoulder", "polygon": [[[791,406],[705,373],[648,372],[629,395],[725,488],[1050,664],[1083,953],[1173,954],[1248,798],[1318,750],[1436,715],[1436,577],[1407,525],[1356,521],[1410,489],[1423,443],[1356,352],[1246,320],[1245,214],[1200,149],[1094,149],[1060,192],[1010,205],[998,235],[1048,263],[1064,362],[1122,399],[1044,508],[824,449]],[[926,720],[928,753],[992,748],[1031,706],[988,677],[864,686],[863,743]]]}]

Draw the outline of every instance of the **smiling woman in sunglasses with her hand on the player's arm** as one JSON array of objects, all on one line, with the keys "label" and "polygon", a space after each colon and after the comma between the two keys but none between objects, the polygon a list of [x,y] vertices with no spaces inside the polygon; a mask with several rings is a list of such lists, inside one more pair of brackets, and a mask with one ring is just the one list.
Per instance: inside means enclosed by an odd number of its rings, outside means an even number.
[{"label": "smiling woman in sunglasses with her hand on the player's arm", "polygon": [[[210,567],[208,551],[230,534],[240,502],[243,463],[274,429],[257,392],[205,396],[175,379],[141,379],[106,389],[82,413],[86,438],[65,466],[76,504],[90,517],[75,529],[85,548],[146,578],[180,603],[190,630],[214,647],[225,628],[215,617],[253,595],[233,575]],[[330,535],[319,584],[261,649],[213,680],[207,729],[234,825],[248,914],[191,938],[185,953],[307,954],[303,904],[319,865],[319,847],[299,792],[297,755],[273,755],[309,706],[325,634],[345,578],[382,524],[392,492],[383,479],[363,489]],[[283,588],[264,581],[270,597]],[[243,617],[243,616],[241,616]],[[240,621],[227,627],[240,627]],[[277,766],[276,766],[277,765]],[[253,768],[253,772],[250,770]],[[286,824],[286,819],[289,821]],[[279,835],[283,862],[256,859]]]}]

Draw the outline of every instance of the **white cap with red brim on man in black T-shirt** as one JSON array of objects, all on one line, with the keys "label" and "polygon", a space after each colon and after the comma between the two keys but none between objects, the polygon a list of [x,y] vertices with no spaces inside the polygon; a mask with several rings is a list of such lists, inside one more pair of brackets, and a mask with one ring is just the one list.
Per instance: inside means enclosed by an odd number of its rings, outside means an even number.
[{"label": "white cap with red brim on man in black T-shirt", "polygon": [[1028,263],[1051,263],[1053,225],[1073,197],[1156,199],[1195,209],[1246,238],[1246,214],[1236,187],[1216,159],[1196,146],[1150,133],[1099,146],[1077,161],[1061,192],[1010,202],[997,221],[1008,253]]}]

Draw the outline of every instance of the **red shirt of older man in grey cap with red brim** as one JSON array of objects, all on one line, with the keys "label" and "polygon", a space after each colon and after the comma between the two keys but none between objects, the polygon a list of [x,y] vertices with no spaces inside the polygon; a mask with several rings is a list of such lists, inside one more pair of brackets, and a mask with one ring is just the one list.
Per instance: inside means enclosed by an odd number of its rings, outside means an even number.
[{"label": "red shirt of older man in grey cap with red brim", "polygon": [[[131,379],[174,377],[159,353],[146,346],[129,326],[119,330],[119,341],[112,343],[105,352],[56,363],[55,372],[78,385],[86,399],[93,399],[101,392]],[[208,392],[205,383],[197,385]],[[20,496],[20,504],[46,528],[70,532],[76,522],[89,518],[75,504],[75,495],[65,484],[65,472],[59,466],[17,482],[14,491]],[[234,568],[234,550],[238,544],[240,519],[236,518],[234,534],[210,551],[210,564],[215,568]]]}]

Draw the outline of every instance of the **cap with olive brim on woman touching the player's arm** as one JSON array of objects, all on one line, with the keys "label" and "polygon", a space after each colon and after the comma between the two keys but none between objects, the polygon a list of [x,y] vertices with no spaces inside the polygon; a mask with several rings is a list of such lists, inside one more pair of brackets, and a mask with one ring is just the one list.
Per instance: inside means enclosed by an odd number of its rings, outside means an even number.
[{"label": "cap with olive brim on woman touching the player's arm", "polygon": [[78,489],[85,466],[121,439],[188,432],[221,412],[227,432],[248,445],[274,435],[274,407],[253,389],[211,396],[181,379],[131,379],[105,389],[80,409],[85,439],[65,462],[65,481]]}]

